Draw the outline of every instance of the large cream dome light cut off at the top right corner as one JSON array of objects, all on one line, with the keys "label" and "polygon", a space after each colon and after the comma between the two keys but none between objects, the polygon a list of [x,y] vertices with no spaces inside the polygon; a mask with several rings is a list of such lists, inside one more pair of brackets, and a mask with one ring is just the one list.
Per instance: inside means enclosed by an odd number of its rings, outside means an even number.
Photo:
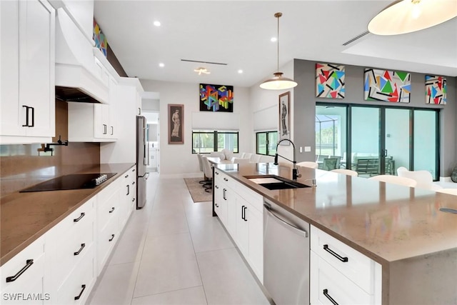
[{"label": "large cream dome light cut off at the top right corner", "polygon": [[371,19],[368,31],[376,35],[406,34],[436,26],[456,16],[456,0],[394,1]]}]

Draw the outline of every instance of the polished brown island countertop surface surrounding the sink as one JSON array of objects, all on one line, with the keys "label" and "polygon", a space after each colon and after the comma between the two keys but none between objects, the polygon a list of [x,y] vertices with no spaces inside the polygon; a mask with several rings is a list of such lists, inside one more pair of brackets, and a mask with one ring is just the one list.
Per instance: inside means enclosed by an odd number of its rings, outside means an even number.
[{"label": "polished brown island countertop surface surrounding the sink", "polygon": [[273,174],[291,179],[291,166],[216,166],[283,209],[308,221],[383,265],[457,249],[456,196],[299,167],[298,182],[316,187],[268,190],[244,176]]}]

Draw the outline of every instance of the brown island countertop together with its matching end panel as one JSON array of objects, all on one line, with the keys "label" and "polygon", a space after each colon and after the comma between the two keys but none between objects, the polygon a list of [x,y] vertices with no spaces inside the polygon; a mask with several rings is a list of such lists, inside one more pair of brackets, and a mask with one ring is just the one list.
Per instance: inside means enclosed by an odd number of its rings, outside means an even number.
[{"label": "brown island countertop together with its matching end panel", "polygon": [[457,304],[457,215],[440,211],[455,196],[304,167],[298,182],[316,187],[269,190],[245,176],[291,179],[291,166],[216,167],[380,264],[382,304]]}]

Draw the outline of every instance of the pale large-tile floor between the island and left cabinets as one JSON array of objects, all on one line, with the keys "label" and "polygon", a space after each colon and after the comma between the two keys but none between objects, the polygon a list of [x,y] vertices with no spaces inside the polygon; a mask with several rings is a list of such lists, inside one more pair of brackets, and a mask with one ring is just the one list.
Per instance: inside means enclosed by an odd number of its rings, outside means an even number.
[{"label": "pale large-tile floor between the island and left cabinets", "polygon": [[194,203],[184,179],[151,173],[147,188],[89,304],[269,304],[211,202]]}]

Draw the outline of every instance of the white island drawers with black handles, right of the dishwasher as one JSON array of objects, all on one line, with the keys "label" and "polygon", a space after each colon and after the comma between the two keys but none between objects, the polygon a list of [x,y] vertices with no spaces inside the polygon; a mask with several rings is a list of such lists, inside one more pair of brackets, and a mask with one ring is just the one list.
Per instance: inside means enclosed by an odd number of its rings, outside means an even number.
[{"label": "white island drawers with black handles, right of the dishwasher", "polygon": [[381,265],[311,226],[311,304],[381,304]]}]

